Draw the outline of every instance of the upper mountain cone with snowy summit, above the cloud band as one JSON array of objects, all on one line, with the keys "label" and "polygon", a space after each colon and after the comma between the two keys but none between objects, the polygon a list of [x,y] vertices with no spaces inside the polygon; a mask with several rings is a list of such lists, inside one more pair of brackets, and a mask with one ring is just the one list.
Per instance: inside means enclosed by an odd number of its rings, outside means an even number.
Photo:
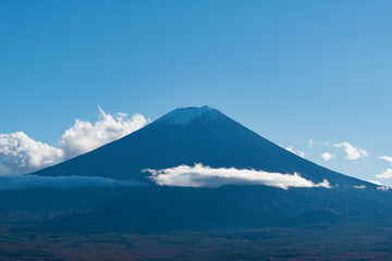
[{"label": "upper mountain cone with snowy summit, above the cloud band", "polygon": [[284,174],[296,172],[314,183],[327,178],[332,186],[375,187],[291,153],[209,107],[176,109],[114,142],[34,174],[150,182],[149,173],[143,170],[195,163]]}]

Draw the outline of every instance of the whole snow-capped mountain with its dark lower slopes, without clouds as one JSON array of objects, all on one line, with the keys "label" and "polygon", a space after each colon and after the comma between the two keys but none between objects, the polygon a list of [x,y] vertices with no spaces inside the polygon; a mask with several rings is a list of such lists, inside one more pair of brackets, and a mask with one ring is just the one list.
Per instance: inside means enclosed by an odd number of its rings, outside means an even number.
[{"label": "whole snow-capped mountain with its dark lower slopes, without clouds", "polygon": [[[298,173],[314,184],[327,179],[330,186],[160,186],[143,171],[195,163],[273,175]],[[2,213],[4,220],[16,216],[12,222],[27,222],[38,232],[392,227],[390,191],[307,161],[209,107],[176,109],[117,141],[33,174],[144,184],[0,191],[0,217]]]}]

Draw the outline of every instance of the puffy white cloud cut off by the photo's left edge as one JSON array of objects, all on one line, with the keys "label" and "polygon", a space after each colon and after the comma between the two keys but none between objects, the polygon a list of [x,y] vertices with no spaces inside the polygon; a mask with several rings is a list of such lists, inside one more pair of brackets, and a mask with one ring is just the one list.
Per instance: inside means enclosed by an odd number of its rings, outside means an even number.
[{"label": "puffy white cloud cut off by the photo's left edge", "polygon": [[56,164],[63,151],[29,138],[25,133],[0,134],[0,174],[21,172]]}]

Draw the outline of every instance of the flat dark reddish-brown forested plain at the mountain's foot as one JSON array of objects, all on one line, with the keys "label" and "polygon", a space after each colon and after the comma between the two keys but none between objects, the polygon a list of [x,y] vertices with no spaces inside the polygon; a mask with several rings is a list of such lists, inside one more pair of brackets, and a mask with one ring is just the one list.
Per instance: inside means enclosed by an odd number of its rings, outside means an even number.
[{"label": "flat dark reddish-brown forested plain at the mountain's foot", "polygon": [[[392,229],[353,227],[173,231],[162,234],[12,232],[0,260],[391,260]],[[15,228],[15,227],[13,227]],[[342,229],[344,228],[344,229]]]}]

